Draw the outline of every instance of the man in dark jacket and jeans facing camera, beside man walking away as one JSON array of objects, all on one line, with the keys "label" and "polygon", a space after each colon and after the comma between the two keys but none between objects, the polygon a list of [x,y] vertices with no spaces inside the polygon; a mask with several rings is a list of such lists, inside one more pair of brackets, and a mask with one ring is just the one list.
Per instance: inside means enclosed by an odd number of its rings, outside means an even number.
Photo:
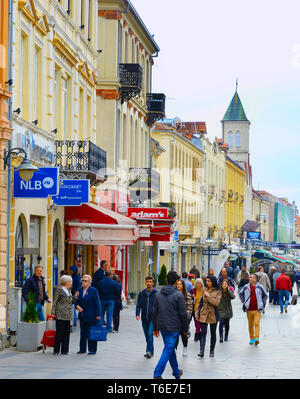
[{"label": "man in dark jacket and jeans facing camera, beside man walking away", "polygon": [[[144,357],[150,359],[154,354],[152,310],[158,290],[154,288],[154,278],[152,276],[146,277],[145,284],[146,288],[138,295],[135,314],[137,320],[142,319],[142,327],[147,342]],[[140,316],[141,312],[142,316]]]}]

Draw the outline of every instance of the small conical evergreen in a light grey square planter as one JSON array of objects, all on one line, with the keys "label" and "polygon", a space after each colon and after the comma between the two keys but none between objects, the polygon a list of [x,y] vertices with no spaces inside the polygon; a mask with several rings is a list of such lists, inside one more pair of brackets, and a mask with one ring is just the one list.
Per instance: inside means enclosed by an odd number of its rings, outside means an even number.
[{"label": "small conical evergreen in a light grey square planter", "polygon": [[46,329],[46,322],[40,321],[36,310],[35,296],[32,291],[28,293],[28,302],[23,316],[23,321],[18,322],[17,350],[22,352],[35,352],[41,347],[41,339]]}]

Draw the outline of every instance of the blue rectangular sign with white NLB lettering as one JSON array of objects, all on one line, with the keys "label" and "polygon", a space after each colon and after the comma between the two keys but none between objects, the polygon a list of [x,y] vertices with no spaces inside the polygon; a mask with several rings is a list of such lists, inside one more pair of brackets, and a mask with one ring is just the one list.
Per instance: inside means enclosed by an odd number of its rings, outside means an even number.
[{"label": "blue rectangular sign with white NLB lettering", "polygon": [[40,168],[29,181],[14,172],[13,198],[48,198],[58,194],[58,168]]}]

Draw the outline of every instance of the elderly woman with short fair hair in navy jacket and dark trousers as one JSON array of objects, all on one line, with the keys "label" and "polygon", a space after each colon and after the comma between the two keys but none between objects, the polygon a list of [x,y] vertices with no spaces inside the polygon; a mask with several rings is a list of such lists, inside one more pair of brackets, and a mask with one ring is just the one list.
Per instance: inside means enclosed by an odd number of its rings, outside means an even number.
[{"label": "elderly woman with short fair hair in navy jacket and dark trousers", "polygon": [[88,274],[85,274],[81,278],[82,287],[79,289],[79,295],[75,304],[76,309],[79,313],[80,321],[80,343],[79,352],[86,353],[86,347],[88,344],[88,355],[95,355],[97,352],[97,341],[91,341],[89,339],[90,327],[95,326],[97,320],[100,320],[101,305],[98,295],[98,290],[91,287],[92,278]]}]

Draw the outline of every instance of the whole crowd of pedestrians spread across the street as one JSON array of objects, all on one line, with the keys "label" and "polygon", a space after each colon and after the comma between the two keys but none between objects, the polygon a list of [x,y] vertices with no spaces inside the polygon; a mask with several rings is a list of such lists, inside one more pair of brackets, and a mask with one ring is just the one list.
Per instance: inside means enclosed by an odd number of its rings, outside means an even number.
[{"label": "whole crowd of pedestrians spread across the street", "polygon": [[[28,293],[34,293],[36,309],[40,320],[45,320],[43,305],[51,302],[47,292],[42,266],[36,266],[34,274],[26,280],[22,295],[28,301]],[[214,269],[202,275],[196,266],[190,273],[179,276],[170,271],[167,285],[155,288],[152,276],[145,279],[145,289],[139,294],[136,302],[136,319],[141,321],[146,340],[145,358],[154,355],[154,338],[160,335],[164,349],[154,370],[154,378],[162,378],[166,364],[170,362],[175,378],[180,378],[183,370],[179,369],[176,350],[181,346],[182,355],[188,356],[188,342],[191,337],[190,324],[194,320],[194,342],[199,342],[198,357],[205,356],[207,332],[210,332],[209,356],[215,356],[217,333],[219,342],[227,342],[230,332],[230,319],[234,316],[232,300],[238,297],[242,309],[247,315],[250,345],[260,342],[260,319],[265,312],[267,298],[269,303],[278,305],[280,314],[288,312],[289,300],[293,300],[293,285],[296,284],[300,294],[300,268],[295,273],[291,268],[286,270],[270,267],[269,274],[259,266],[251,273],[246,266],[233,268],[229,262],[224,264],[218,276]],[[63,270],[60,273],[60,284],[54,290],[52,314],[56,316],[56,336],[54,355],[69,352],[70,332],[72,326],[80,323],[80,341],[78,354],[97,353],[97,341],[90,340],[90,328],[96,325],[106,326],[108,333],[117,333],[120,327],[122,305],[122,284],[113,268],[107,261],[102,261],[93,278],[78,273],[77,266],[70,268],[70,275]]]}]

